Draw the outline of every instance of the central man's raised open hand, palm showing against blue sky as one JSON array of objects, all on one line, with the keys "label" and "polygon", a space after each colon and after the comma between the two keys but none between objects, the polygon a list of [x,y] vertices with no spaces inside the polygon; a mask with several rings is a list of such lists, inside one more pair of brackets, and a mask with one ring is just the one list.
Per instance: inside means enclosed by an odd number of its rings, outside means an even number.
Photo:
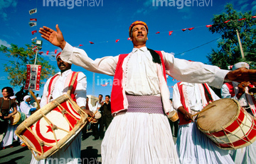
[{"label": "central man's raised open hand, palm showing against blue sky", "polygon": [[60,47],[61,49],[64,49],[66,42],[58,25],[56,25],[56,31],[43,26],[43,28],[40,28],[39,33],[42,34],[41,37],[43,37],[43,39],[48,40],[51,44]]}]

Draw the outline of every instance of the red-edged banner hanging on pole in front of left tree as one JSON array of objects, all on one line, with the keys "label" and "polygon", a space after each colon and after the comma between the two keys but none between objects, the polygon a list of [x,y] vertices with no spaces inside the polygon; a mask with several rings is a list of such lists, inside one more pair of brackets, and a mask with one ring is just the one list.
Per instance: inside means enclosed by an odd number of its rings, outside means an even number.
[{"label": "red-edged banner hanging on pole in front of left tree", "polygon": [[41,65],[27,64],[27,79],[25,90],[39,90]]}]

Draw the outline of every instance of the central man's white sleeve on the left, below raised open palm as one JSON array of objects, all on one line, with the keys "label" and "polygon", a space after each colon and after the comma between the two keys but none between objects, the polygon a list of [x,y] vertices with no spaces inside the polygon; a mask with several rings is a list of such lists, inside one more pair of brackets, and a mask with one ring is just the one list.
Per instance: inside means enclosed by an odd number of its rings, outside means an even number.
[{"label": "central man's white sleeve on the left, below raised open palm", "polygon": [[72,47],[68,42],[61,52],[61,59],[70,64],[82,66],[82,68],[98,74],[106,74],[114,76],[114,71],[117,66],[117,57],[103,57],[101,59],[92,60],[87,56],[83,49]]}]

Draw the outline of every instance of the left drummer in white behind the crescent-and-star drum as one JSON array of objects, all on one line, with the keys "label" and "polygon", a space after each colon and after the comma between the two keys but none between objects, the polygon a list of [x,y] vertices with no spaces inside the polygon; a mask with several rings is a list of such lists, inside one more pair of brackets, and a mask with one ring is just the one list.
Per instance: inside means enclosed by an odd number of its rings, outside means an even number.
[{"label": "left drummer in white behind the crescent-and-star drum", "polygon": [[[71,70],[71,64],[60,59],[60,54],[57,55],[57,64],[60,72],[55,74],[55,76],[51,77],[46,81],[46,85],[43,88],[43,97],[41,99],[40,106],[43,107],[51,100],[54,100],[61,95],[67,93],[68,88],[70,86],[70,81],[73,79],[73,71]],[[82,72],[78,73],[76,78],[77,84],[74,91],[71,91],[70,96],[73,98],[75,96],[75,101],[77,102],[78,106],[84,110],[87,115],[93,116],[90,110],[85,109],[86,105],[86,76]],[[75,86],[75,84],[74,84]],[[74,87],[73,86],[73,87]],[[50,93],[50,94],[49,94]],[[73,100],[74,100],[73,98]],[[58,119],[58,118],[56,118]],[[80,158],[81,154],[81,131],[80,133],[75,136],[74,139],[69,141],[65,146],[60,148],[59,151],[54,153],[49,158],[44,160],[36,160],[33,157],[31,159],[31,164],[40,163],[40,164],[58,164],[58,163],[68,163],[68,164],[76,164],[80,163],[82,160]]]}]

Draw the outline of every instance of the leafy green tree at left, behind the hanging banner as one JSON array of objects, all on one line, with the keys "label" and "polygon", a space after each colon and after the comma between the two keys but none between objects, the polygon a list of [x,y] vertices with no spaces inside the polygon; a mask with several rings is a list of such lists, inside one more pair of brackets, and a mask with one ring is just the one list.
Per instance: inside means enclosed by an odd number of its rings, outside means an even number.
[{"label": "leafy green tree at left, behind the hanging banner", "polygon": [[[13,58],[4,64],[4,71],[8,74],[11,86],[25,86],[26,83],[26,65],[34,64],[36,58],[36,52],[33,51],[35,42],[31,45],[26,45],[26,48],[18,47],[11,44],[11,47],[1,45],[0,52],[4,53],[6,57]],[[49,61],[46,61],[38,54],[36,64],[41,65],[41,81],[40,86],[43,86],[43,80],[53,76],[56,71],[55,67],[50,65]]]}]

